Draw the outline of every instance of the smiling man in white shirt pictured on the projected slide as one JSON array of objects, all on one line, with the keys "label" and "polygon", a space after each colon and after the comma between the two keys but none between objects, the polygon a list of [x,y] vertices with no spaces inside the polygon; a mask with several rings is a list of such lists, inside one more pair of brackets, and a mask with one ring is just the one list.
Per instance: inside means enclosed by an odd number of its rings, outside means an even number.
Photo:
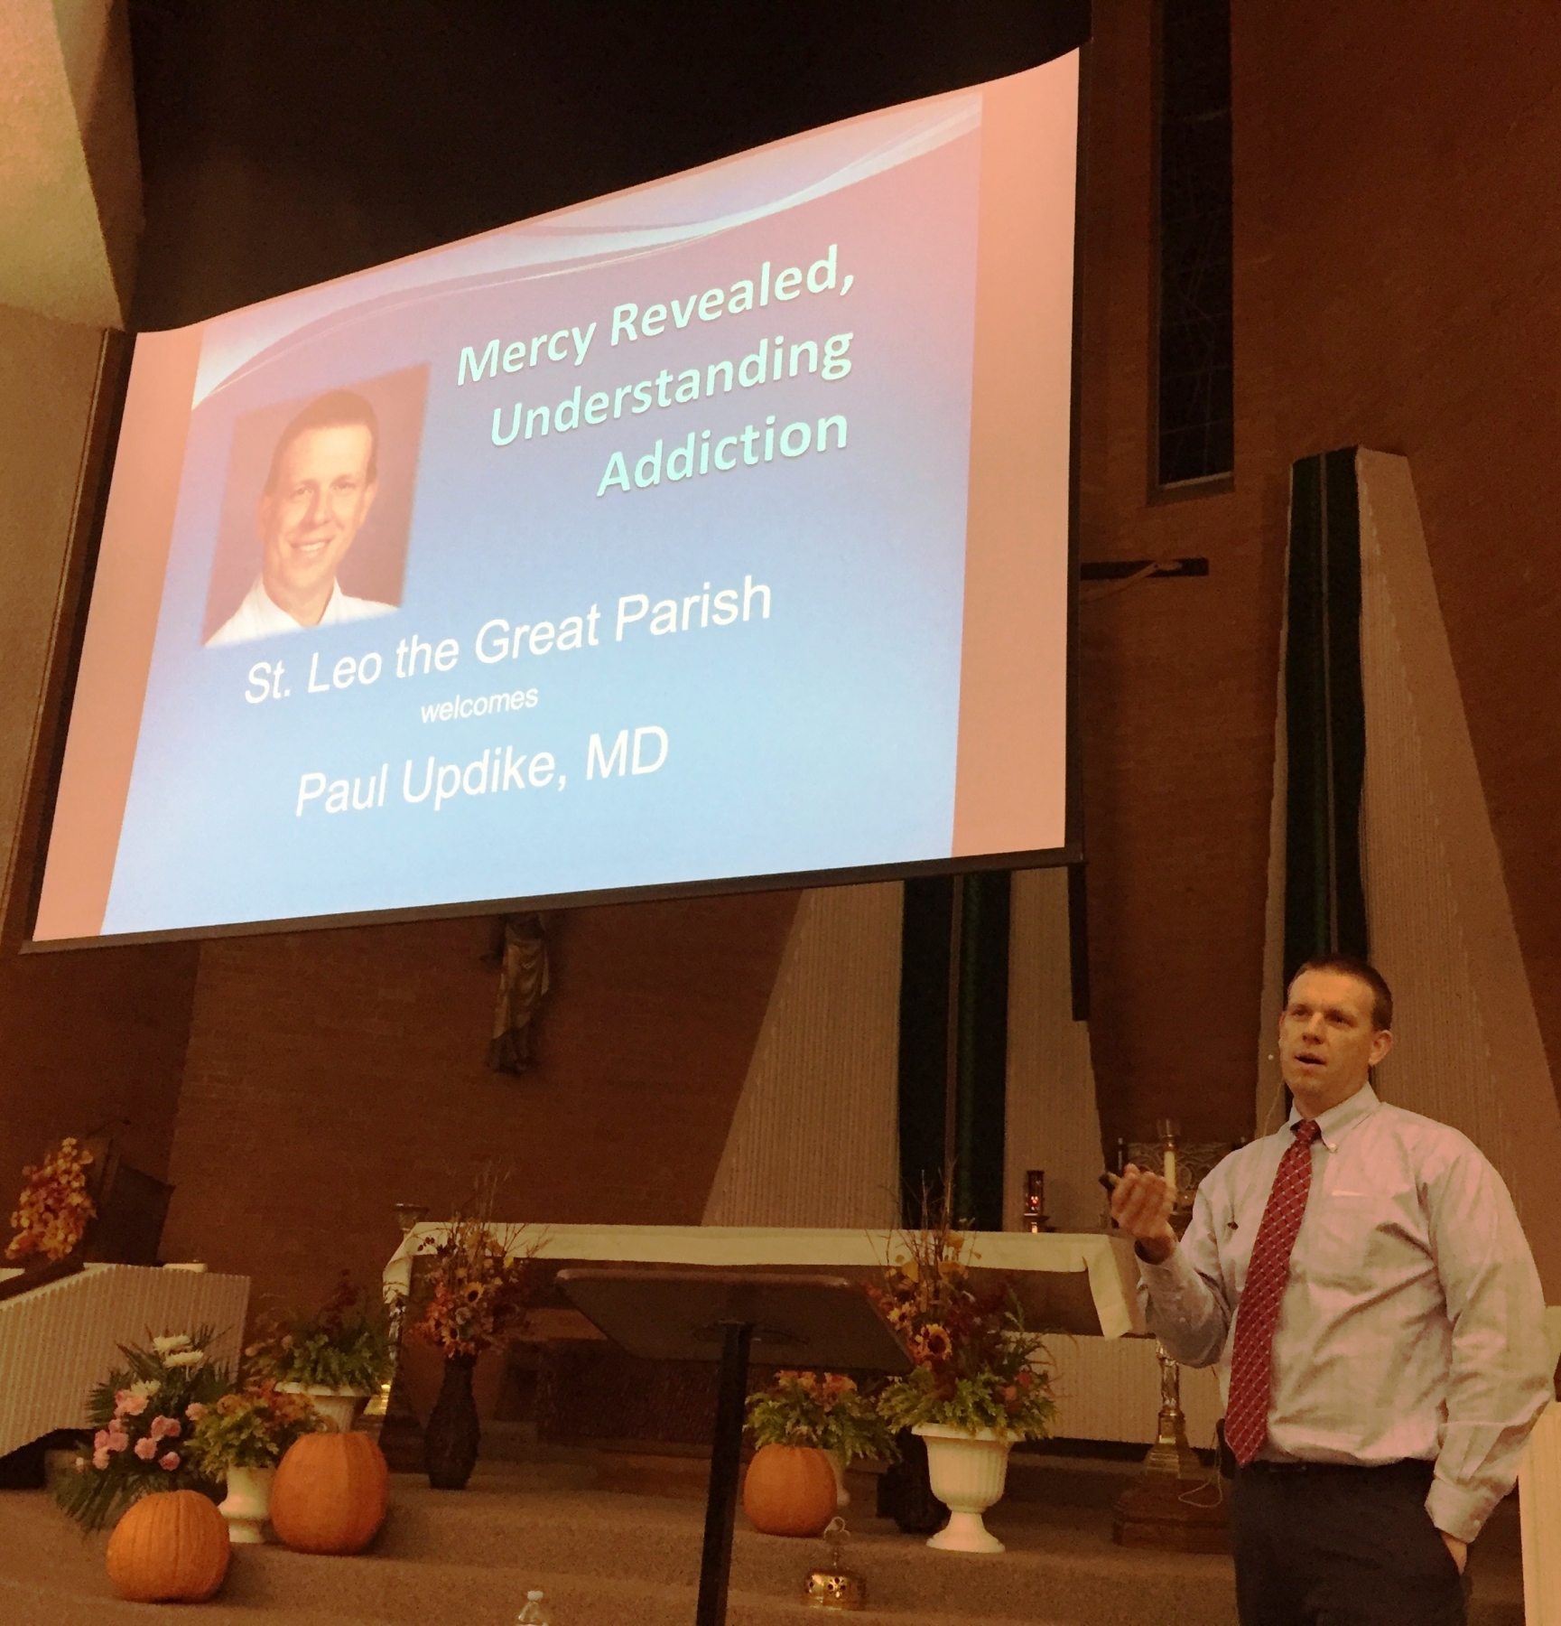
[{"label": "smiling man in white shirt pictured on the projected slide", "polygon": [[260,574],[208,649],[395,610],[352,598],[336,580],[374,506],[378,442],[374,408],[351,390],[318,397],[283,429],[255,506]]}]

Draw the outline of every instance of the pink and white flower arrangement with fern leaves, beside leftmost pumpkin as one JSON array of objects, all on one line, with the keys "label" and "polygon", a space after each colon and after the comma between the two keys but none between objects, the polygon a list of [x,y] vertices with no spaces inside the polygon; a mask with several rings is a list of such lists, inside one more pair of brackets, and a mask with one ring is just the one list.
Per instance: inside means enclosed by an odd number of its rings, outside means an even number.
[{"label": "pink and white flower arrangement with fern leaves, beside leftmost pumpkin", "polygon": [[206,1358],[213,1330],[153,1338],[151,1348],[120,1345],[125,1366],[88,1397],[96,1428],[93,1455],[60,1478],[55,1496],[83,1528],[101,1530],[153,1491],[211,1491],[188,1434],[232,1387]]}]

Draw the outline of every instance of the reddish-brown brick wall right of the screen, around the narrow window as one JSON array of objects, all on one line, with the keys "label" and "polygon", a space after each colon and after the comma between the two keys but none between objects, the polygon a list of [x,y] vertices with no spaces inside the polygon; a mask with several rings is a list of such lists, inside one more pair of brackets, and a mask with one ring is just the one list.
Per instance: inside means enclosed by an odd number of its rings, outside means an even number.
[{"label": "reddish-brown brick wall right of the screen, around the narrow window", "polygon": [[1095,7],[1085,559],[1205,580],[1083,605],[1101,1132],[1252,1127],[1290,465],[1410,459],[1540,1024],[1561,1083],[1561,13],[1233,8],[1236,475],[1155,501],[1152,0]]}]

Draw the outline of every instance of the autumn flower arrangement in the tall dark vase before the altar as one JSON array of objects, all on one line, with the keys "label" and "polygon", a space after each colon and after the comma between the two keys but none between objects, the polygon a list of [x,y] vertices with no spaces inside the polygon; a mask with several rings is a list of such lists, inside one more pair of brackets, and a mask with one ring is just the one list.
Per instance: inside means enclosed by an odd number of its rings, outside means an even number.
[{"label": "autumn flower arrangement in the tall dark vase before the altar", "polygon": [[447,1361],[494,1348],[525,1320],[536,1291],[533,1260],[544,1237],[521,1246],[525,1226],[495,1226],[497,1190],[497,1176],[484,1169],[468,1211],[452,1218],[443,1239],[427,1237],[419,1247],[430,1265],[414,1286],[417,1309],[408,1335],[435,1345]]}]

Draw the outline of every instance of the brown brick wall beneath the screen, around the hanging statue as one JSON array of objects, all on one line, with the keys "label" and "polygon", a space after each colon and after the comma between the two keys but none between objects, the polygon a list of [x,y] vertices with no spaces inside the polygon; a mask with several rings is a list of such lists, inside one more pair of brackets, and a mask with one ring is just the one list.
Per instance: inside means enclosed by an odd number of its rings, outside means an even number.
[{"label": "brown brick wall beneath the screen, around the hanging statue", "polygon": [[551,919],[538,1065],[484,1062],[497,922],[201,945],[166,1259],[307,1302],[377,1281],[391,1205],[448,1213],[489,1158],[505,1216],[697,1224],[794,893]]}]

